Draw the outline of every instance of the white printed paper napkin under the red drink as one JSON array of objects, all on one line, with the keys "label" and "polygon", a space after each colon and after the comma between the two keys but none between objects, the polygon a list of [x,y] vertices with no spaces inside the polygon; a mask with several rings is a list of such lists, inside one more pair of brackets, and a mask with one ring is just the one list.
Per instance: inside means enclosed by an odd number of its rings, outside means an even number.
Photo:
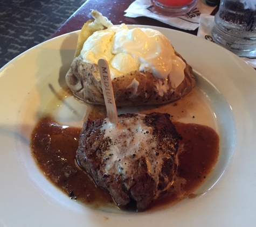
[{"label": "white printed paper napkin under the red drink", "polygon": [[126,17],[150,17],[165,24],[169,24],[179,29],[195,30],[199,26],[200,13],[208,14],[216,8],[207,6],[205,0],[198,0],[197,8],[191,10],[180,17],[168,17],[157,14],[150,0],[136,0],[130,4],[127,10],[124,10]]}]

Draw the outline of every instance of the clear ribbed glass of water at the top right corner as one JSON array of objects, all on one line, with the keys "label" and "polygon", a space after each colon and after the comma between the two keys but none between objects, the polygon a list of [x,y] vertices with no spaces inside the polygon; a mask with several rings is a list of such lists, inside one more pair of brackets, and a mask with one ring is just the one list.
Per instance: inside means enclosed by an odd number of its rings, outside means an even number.
[{"label": "clear ribbed glass of water at the top right corner", "polygon": [[238,56],[256,57],[256,0],[220,0],[212,38]]}]

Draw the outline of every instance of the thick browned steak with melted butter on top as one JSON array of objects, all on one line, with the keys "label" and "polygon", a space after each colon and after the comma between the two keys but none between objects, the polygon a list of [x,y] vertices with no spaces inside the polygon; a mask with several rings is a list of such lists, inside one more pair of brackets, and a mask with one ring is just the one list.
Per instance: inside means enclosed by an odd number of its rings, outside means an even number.
[{"label": "thick browned steak with melted butter on top", "polygon": [[132,199],[145,210],[173,181],[178,139],[168,114],[119,115],[117,127],[108,118],[87,120],[77,160],[117,204]]}]

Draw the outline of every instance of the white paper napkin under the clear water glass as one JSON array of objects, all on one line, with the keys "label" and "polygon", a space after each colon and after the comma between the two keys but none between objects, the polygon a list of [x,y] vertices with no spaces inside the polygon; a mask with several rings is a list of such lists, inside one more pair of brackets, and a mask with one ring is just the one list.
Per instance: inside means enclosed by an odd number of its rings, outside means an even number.
[{"label": "white paper napkin under the clear water glass", "polygon": [[[211,36],[211,31],[214,25],[215,25],[214,16],[201,14],[197,36],[214,42]],[[256,68],[256,58],[241,58],[241,59],[243,59],[253,68]]]}]

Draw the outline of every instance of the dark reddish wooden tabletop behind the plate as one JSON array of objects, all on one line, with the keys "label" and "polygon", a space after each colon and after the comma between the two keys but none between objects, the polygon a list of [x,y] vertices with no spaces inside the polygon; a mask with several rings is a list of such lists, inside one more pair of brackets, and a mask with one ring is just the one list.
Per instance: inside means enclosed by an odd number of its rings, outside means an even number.
[{"label": "dark reddish wooden tabletop behind the plate", "polygon": [[[167,27],[169,29],[175,29],[179,31],[188,32],[196,35],[197,30],[188,31],[178,29],[177,27],[170,26],[159,22],[158,20],[151,19],[148,17],[124,17],[124,10],[134,2],[134,0],[87,0],[59,29],[50,37],[57,37],[61,34],[80,30],[82,25],[88,20],[92,19],[89,14],[93,9],[98,10],[103,16],[106,16],[113,24],[140,24],[140,25],[151,25],[159,27]],[[215,15],[217,8],[212,12]]]}]

